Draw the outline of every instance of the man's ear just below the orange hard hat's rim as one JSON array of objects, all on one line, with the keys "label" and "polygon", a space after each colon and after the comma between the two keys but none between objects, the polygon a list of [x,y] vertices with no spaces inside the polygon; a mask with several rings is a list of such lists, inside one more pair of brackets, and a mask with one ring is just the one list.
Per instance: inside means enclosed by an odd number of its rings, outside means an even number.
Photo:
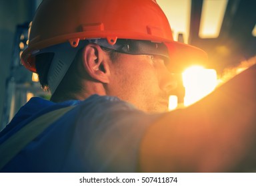
[{"label": "man's ear just below the orange hard hat's rim", "polygon": [[99,45],[89,43],[83,48],[83,66],[91,78],[109,83],[109,64]]}]

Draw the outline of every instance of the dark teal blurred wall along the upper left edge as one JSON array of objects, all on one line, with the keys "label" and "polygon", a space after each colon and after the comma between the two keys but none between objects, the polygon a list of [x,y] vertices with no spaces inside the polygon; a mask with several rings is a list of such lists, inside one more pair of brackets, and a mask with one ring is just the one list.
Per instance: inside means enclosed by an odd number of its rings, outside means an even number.
[{"label": "dark teal blurred wall along the upper left edge", "polygon": [[0,121],[16,26],[31,21],[37,1],[0,0]]}]

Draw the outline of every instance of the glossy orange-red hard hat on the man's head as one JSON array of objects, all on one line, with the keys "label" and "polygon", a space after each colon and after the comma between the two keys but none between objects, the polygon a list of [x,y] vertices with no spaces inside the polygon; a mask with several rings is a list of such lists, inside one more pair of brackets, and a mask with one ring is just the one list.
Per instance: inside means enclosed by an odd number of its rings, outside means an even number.
[{"label": "glossy orange-red hard hat on the man's head", "polygon": [[33,19],[21,62],[35,72],[31,56],[36,50],[66,42],[76,47],[80,40],[99,38],[111,45],[117,39],[165,43],[173,61],[206,57],[199,48],[173,41],[156,0],[44,0]]}]

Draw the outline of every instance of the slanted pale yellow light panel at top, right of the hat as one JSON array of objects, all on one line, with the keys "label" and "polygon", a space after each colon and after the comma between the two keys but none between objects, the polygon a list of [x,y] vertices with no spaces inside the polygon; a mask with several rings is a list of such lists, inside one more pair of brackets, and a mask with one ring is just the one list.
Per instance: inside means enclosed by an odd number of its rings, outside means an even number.
[{"label": "slanted pale yellow light panel at top, right of the hat", "polygon": [[221,31],[228,0],[204,0],[199,37],[217,38]]}]

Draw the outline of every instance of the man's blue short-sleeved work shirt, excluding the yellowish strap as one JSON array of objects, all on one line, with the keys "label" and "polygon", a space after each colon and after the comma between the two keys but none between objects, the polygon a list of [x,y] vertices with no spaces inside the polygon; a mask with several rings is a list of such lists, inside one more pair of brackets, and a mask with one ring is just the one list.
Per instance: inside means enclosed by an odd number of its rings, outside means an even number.
[{"label": "man's blue short-sleeved work shirt, excluding the yellowish strap", "polygon": [[159,115],[145,114],[111,96],[93,95],[84,101],[61,103],[31,98],[0,133],[0,145],[35,118],[67,106],[75,107],[26,145],[0,171],[137,171],[141,139]]}]

